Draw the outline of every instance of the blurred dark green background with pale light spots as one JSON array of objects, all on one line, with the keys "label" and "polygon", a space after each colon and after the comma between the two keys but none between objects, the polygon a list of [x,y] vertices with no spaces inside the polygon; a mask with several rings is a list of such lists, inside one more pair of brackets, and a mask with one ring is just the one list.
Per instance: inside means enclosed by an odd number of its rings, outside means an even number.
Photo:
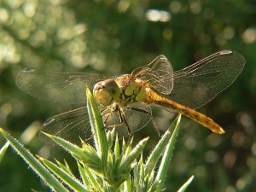
[{"label": "blurred dark green background with pale light spots", "polygon": [[[37,131],[45,119],[68,108],[19,90],[15,75],[22,68],[116,75],[131,73],[163,54],[177,70],[218,50],[236,50],[247,61],[241,75],[200,109],[226,134],[212,134],[183,118],[166,191],[176,191],[195,175],[188,191],[253,192],[255,19],[254,0],[1,0],[0,126],[32,153],[47,154]],[[27,132],[31,139],[24,137]],[[148,134],[144,128],[137,137]],[[159,139],[155,132],[153,136],[148,152]],[[9,148],[0,164],[0,191],[49,191],[27,167]]]}]

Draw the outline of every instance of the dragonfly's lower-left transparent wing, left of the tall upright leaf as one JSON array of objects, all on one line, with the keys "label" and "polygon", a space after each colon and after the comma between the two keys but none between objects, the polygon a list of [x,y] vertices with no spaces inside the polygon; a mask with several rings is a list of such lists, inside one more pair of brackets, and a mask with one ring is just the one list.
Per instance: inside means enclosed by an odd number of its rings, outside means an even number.
[{"label": "dragonfly's lower-left transparent wing, left of the tall upright leaf", "polygon": [[71,143],[81,144],[79,138],[86,141],[91,137],[87,108],[77,108],[47,119],[42,126],[42,131]]}]

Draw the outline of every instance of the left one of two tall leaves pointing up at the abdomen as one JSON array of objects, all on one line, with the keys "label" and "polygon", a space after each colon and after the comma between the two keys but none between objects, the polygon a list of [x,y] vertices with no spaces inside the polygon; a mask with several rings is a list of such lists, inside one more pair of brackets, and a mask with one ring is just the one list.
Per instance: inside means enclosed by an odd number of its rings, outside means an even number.
[{"label": "left one of two tall leaves pointing up at the abdomen", "polygon": [[163,150],[166,148],[166,145],[169,142],[170,137],[172,136],[171,131],[174,130],[174,128],[177,126],[177,121],[180,119],[180,116],[181,115],[179,114],[177,118],[174,119],[170,128],[165,132],[163,137],[161,137],[159,143],[157,143],[154,150],[150,153],[148,160],[146,161],[146,174],[153,171],[154,166],[160,159]]}]

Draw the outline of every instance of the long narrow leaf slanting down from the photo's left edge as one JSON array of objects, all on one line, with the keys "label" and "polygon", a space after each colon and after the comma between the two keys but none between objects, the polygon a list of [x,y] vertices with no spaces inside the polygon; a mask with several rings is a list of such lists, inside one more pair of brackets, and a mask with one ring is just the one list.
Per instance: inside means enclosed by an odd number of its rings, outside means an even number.
[{"label": "long narrow leaf slanting down from the photo's left edge", "polygon": [[11,137],[9,133],[3,131],[2,128],[0,128],[0,133],[9,141],[9,143],[11,143],[11,146],[15,148],[15,151],[20,154],[22,159],[32,167],[32,170],[44,179],[49,185],[49,188],[54,189],[55,191],[67,191],[67,189],[14,137]]}]

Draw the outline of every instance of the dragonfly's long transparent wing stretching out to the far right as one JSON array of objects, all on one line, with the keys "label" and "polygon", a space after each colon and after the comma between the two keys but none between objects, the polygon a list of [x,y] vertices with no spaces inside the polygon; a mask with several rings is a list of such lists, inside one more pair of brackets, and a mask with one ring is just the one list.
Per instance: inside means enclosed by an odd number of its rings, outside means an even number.
[{"label": "dragonfly's long transparent wing stretching out to the far right", "polygon": [[232,84],[244,65],[244,57],[231,50],[210,55],[175,72],[168,97],[186,107],[200,108]]}]

